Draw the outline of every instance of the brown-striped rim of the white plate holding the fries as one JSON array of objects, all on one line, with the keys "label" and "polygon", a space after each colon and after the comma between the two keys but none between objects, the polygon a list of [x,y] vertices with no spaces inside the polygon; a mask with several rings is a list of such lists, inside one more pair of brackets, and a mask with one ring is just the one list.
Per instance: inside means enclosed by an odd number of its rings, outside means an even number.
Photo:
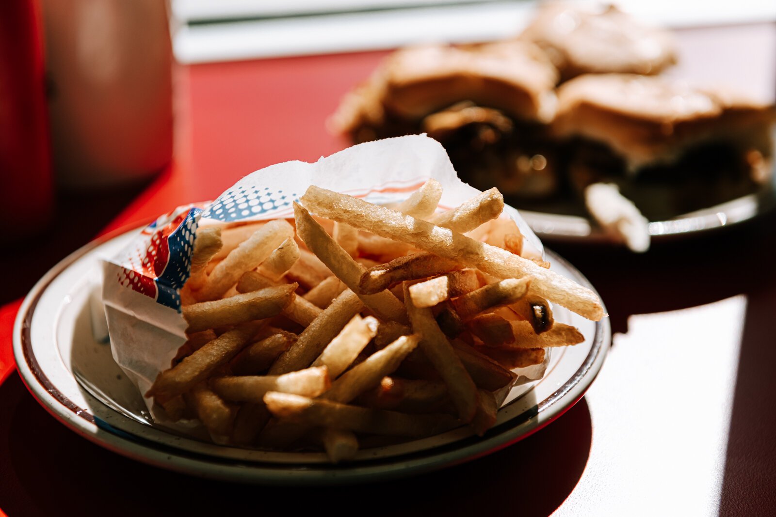
[{"label": "brown-striped rim of the white plate holding the fries", "polygon": [[[611,346],[611,326],[608,317],[605,317],[599,322],[594,322],[595,335],[591,342],[591,350],[587,353],[583,364],[568,381],[553,391],[553,394],[545,400],[537,402],[535,406],[529,408],[522,415],[490,429],[483,437],[470,436],[430,450],[417,451],[385,460],[369,460],[365,463],[344,465],[270,464],[255,460],[236,462],[204,453],[180,450],[116,429],[99,417],[92,415],[88,408],[79,407],[50,381],[40,367],[32,349],[31,323],[33,315],[37,303],[50,284],[90,251],[110,240],[120,238],[126,233],[136,231],[142,226],[124,226],[106,233],[85,246],[81,246],[52,267],[47,274],[44,274],[29,291],[16,315],[13,330],[13,351],[16,367],[23,383],[36,402],[42,405],[50,415],[92,443],[155,467],[226,481],[299,485],[355,484],[438,470],[501,450],[531,436],[559,418],[584,396],[584,392],[598,375]],[[566,267],[575,281],[595,291],[587,278],[563,257],[551,250],[546,250],[546,253],[551,260],[563,264],[563,267]],[[556,405],[556,402],[566,397],[569,398],[565,405]],[[116,414],[120,415],[118,412]],[[523,415],[525,418],[521,418]],[[126,418],[123,415],[120,416]],[[407,462],[407,458],[411,460]],[[393,468],[386,469],[386,465],[393,465]]]}]

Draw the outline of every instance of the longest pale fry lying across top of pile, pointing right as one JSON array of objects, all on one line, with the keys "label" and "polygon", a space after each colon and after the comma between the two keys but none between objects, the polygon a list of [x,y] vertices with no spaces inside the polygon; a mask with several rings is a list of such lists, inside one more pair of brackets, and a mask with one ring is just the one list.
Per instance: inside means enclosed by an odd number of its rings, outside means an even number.
[{"label": "longest pale fry lying across top of pile, pointing right", "polygon": [[480,269],[494,277],[533,277],[532,290],[537,295],[594,321],[604,316],[601,302],[593,291],[507,250],[477,242],[409,215],[315,186],[307,189],[302,201],[307,209],[322,217],[348,222],[355,228],[410,243],[422,250]]}]

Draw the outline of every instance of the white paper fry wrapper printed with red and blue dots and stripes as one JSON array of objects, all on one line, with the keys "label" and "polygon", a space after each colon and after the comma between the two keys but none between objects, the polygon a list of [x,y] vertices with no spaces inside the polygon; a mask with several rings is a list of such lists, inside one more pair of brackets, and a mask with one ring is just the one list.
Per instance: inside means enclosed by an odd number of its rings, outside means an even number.
[{"label": "white paper fry wrapper printed with red and blue dots and stripes", "polygon": [[[189,277],[199,226],[293,219],[292,203],[313,184],[388,205],[404,201],[429,178],[444,188],[442,210],[480,192],[459,180],[436,140],[401,136],[352,146],[314,164],[275,164],[237,181],[207,205],[182,206],[162,215],[116,257],[102,261],[102,300],[114,360],[143,394],[170,367],[186,339],[179,293]],[[514,219],[525,246],[542,255],[542,243],[517,210],[505,206],[501,217]],[[518,384],[542,377],[546,356],[544,364],[518,370]],[[154,419],[165,421],[151,399],[145,400]]]}]

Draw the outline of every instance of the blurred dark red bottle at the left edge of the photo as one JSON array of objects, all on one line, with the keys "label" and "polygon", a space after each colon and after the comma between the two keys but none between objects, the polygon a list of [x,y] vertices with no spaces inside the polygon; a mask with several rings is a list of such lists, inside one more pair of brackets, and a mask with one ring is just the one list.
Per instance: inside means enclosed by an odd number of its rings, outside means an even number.
[{"label": "blurred dark red bottle at the left edge of the photo", "polygon": [[36,233],[53,207],[40,5],[0,2],[0,207],[3,235]]}]

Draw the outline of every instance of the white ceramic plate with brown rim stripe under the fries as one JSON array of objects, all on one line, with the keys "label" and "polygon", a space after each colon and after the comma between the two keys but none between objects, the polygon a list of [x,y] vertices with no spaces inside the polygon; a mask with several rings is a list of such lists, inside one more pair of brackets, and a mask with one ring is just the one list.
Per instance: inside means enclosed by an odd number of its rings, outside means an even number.
[{"label": "white ceramic plate with brown rim stripe under the fries", "polygon": [[[608,319],[591,322],[556,308],[555,318],[586,336],[553,350],[546,375],[513,388],[497,424],[482,438],[461,428],[392,446],[365,449],[332,466],[322,453],[244,450],[185,436],[151,421],[140,394],[113,362],[109,343],[95,341],[90,298],[100,257],[134,232],[91,243],[62,260],[30,291],[14,329],[14,354],[24,382],[44,408],[85,438],[147,464],[187,474],[262,484],[338,484],[418,474],[514,443],[577,402],[603,364]],[[570,264],[548,252],[553,269],[591,287]]]}]

